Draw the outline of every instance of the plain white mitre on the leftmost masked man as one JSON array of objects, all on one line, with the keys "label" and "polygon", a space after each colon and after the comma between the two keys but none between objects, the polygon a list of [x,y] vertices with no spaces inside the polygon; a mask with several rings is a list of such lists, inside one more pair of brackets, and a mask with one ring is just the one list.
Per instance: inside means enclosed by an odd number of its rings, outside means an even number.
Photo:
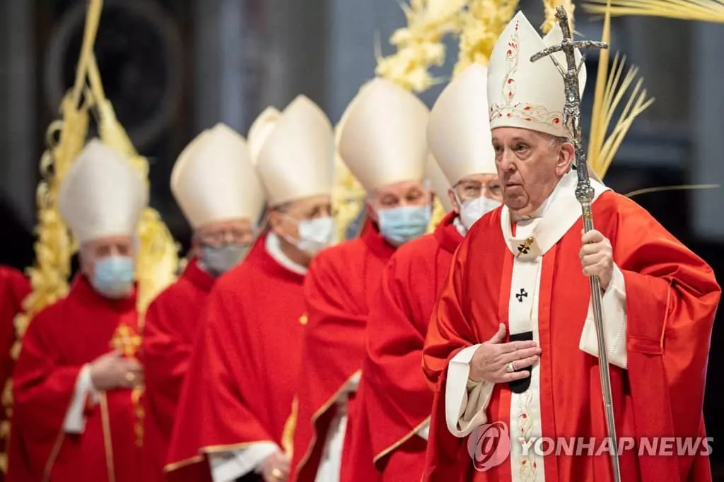
[{"label": "plain white mitre on the leftmost masked man", "polygon": [[90,140],[60,184],[60,215],[86,242],[110,236],[134,236],[148,187],[138,172],[98,139]]}]

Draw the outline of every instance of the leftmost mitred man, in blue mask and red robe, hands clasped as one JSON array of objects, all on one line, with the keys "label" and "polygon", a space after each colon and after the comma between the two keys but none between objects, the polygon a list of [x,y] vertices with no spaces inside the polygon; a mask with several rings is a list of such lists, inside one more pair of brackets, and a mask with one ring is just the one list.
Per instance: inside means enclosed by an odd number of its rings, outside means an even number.
[{"label": "leftmost mitred man, in blue mask and red robe, hands clasped", "polygon": [[80,245],[80,272],[22,339],[8,481],[139,480],[134,247],[147,203],[143,179],[99,140],[67,170],[58,206]]}]

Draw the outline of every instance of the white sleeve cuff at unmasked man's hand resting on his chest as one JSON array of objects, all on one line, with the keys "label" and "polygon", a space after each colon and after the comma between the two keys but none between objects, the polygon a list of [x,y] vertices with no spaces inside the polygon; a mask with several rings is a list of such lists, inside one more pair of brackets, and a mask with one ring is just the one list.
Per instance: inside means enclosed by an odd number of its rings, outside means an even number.
[{"label": "white sleeve cuff at unmasked man's hand resting on his chest", "polygon": [[[470,361],[480,347],[475,344],[460,351],[450,360],[445,383],[445,423],[450,434],[468,436],[487,422],[485,413],[495,384],[487,381],[471,382]],[[468,388],[469,387],[469,388]]]}]

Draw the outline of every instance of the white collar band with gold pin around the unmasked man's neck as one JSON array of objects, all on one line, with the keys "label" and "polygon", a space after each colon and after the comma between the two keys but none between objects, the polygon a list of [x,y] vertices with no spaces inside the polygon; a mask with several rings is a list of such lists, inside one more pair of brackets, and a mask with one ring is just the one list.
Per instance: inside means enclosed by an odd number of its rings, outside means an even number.
[{"label": "white collar band with gold pin around the unmasked man's neck", "polygon": [[[500,228],[505,244],[517,258],[521,260],[534,260],[538,256],[547,253],[563,235],[571,229],[573,224],[581,217],[581,204],[576,199],[576,185],[578,185],[578,174],[571,169],[565,174],[555,187],[547,200],[536,210],[536,213],[528,216],[527,219],[518,221],[524,224],[529,219],[534,223],[529,237],[513,237],[512,218],[508,206],[503,206],[500,216]],[[591,179],[591,187],[594,188],[595,202],[601,193],[610,190],[595,179]],[[537,216],[537,217],[533,217]]]}]

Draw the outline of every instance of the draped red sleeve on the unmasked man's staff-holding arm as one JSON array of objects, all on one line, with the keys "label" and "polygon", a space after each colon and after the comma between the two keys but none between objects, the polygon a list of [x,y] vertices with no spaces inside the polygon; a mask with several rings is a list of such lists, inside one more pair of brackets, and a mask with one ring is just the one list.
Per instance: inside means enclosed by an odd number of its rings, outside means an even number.
[{"label": "draped red sleeve on the unmasked man's staff-holding arm", "polygon": [[[636,203],[620,200],[617,215],[613,258],[626,282],[628,378],[636,431],[641,436],[699,436],[721,289],[710,266]],[[667,463],[661,458],[641,457],[642,474],[649,474],[644,479],[668,478],[677,459],[681,480],[692,480],[687,479],[692,468],[696,472],[708,465],[695,460],[705,457],[663,457],[670,459]]]}]

